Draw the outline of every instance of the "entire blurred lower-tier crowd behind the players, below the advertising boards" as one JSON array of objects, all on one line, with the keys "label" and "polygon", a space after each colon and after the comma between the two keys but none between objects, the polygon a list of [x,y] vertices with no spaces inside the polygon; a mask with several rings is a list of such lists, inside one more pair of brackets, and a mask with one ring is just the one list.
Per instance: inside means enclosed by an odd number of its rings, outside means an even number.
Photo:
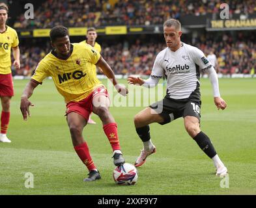
[{"label": "entire blurred lower-tier crowd behind the players, below the advertising boards", "polygon": [[[218,59],[219,73],[250,73],[256,68],[256,34],[237,33],[231,36],[226,33],[216,36],[206,33],[192,39],[188,44],[195,45],[205,55],[213,51]],[[99,42],[100,43],[100,42]],[[100,43],[101,44],[101,43]],[[33,44],[21,44],[21,69],[18,75],[30,76],[36,68],[36,64],[51,51],[50,44],[45,42],[35,47]],[[141,42],[140,39],[128,43],[126,40],[117,44],[102,45],[102,56],[107,60],[116,74],[150,75],[156,55],[165,48],[164,38],[162,43],[148,41]],[[100,73],[100,72],[98,72]]]}]

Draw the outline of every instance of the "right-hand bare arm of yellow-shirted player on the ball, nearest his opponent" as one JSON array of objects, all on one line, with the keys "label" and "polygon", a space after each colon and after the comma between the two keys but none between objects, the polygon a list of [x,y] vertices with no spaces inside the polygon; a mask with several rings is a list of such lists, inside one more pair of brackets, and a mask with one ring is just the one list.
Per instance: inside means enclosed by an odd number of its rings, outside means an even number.
[{"label": "right-hand bare arm of yellow-shirted player on the ball, nearest his opponent", "polygon": [[117,79],[115,79],[115,73],[113,72],[109,64],[107,64],[106,60],[103,59],[103,57],[98,60],[96,66],[102,69],[102,72],[107,76],[108,79],[111,80],[119,94],[121,94],[122,96],[126,96],[126,94],[128,94],[127,88],[117,83]]}]

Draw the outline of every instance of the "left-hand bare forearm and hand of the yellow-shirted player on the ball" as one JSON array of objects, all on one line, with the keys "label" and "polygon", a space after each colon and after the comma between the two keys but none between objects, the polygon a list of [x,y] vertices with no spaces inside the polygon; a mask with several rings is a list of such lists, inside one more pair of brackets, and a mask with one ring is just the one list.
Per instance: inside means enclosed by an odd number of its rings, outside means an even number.
[{"label": "left-hand bare forearm and hand of the yellow-shirted player on the ball", "polygon": [[35,83],[34,81],[29,81],[21,95],[20,110],[23,116],[23,120],[27,120],[27,115],[29,115],[30,117],[29,107],[34,106],[34,104],[29,101],[29,98],[32,96],[36,86],[38,86],[38,83]]}]

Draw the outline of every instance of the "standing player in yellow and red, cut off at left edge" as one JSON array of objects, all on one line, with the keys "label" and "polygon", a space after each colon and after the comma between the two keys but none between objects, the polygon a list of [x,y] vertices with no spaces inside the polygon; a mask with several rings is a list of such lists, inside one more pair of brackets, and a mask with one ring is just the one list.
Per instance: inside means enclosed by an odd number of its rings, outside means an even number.
[{"label": "standing player in yellow and red, cut off at left edge", "polygon": [[10,99],[14,96],[12,84],[12,65],[10,59],[11,49],[14,55],[14,66],[20,69],[20,49],[17,32],[6,25],[8,19],[8,6],[0,3],[0,98],[2,105],[1,112],[1,133],[0,142],[11,142],[7,138],[8,123],[10,121]]}]

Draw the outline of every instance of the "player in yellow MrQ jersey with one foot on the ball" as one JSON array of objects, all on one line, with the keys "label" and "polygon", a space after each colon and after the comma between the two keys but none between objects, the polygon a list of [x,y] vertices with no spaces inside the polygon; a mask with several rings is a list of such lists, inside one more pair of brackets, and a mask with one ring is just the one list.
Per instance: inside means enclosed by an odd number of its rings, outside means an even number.
[{"label": "player in yellow MrQ jersey with one foot on the ball", "polygon": [[66,101],[66,121],[74,149],[89,170],[89,177],[84,181],[95,181],[101,176],[92,161],[87,142],[82,134],[91,112],[97,114],[102,120],[104,133],[113,150],[115,166],[123,164],[125,160],[119,144],[117,123],[109,112],[107,90],[92,73],[93,66],[96,65],[102,69],[122,96],[126,96],[128,90],[118,85],[115,74],[98,51],[90,45],[70,44],[66,27],[53,27],[50,38],[53,51],[40,61],[35,75],[25,86],[21,96],[21,113],[23,119],[27,120],[27,115],[30,116],[29,107],[33,106],[29,98],[36,86],[42,83],[44,78],[51,76],[57,90]]}]

